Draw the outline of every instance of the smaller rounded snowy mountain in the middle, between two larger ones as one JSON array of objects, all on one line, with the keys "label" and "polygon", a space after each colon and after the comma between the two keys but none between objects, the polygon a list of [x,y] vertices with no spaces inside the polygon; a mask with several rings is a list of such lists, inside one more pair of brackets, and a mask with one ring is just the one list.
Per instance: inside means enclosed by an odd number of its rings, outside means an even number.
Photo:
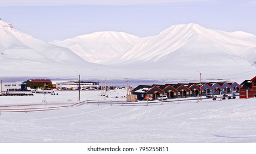
[{"label": "smaller rounded snowy mountain in the middle, between two larger ones", "polygon": [[143,42],[142,38],[125,32],[105,31],[69,38],[55,44],[69,48],[88,62],[103,63],[140,42]]}]

